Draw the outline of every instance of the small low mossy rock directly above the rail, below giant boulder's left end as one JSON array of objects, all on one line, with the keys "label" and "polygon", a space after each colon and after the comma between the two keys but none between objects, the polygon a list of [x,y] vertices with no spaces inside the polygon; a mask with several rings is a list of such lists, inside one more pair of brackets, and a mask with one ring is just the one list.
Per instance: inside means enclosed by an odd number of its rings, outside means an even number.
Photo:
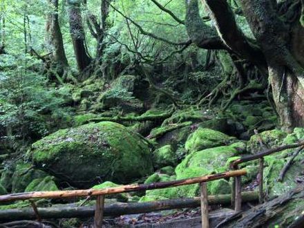
[{"label": "small low mossy rock directly above the rail, below giant boulder's left end", "polygon": [[59,190],[55,184],[53,176],[46,176],[45,178],[37,178],[32,180],[24,191],[57,191]]}]

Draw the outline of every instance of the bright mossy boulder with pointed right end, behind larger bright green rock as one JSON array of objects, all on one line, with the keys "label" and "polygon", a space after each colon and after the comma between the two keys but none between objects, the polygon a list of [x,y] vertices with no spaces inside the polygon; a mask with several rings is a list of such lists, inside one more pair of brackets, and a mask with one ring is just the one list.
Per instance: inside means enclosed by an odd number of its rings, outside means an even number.
[{"label": "bright mossy boulder with pointed right end, behind larger bright green rock", "polygon": [[191,153],[216,146],[231,144],[231,142],[234,142],[235,140],[234,137],[229,137],[220,131],[198,128],[189,135],[184,146],[185,149]]}]

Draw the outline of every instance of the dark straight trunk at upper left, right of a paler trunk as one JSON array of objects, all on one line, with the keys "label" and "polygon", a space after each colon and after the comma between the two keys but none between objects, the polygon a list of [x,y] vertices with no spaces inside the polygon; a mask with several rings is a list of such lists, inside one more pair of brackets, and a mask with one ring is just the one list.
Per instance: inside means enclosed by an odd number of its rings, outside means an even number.
[{"label": "dark straight trunk at upper left, right of a paler trunk", "polygon": [[79,72],[82,72],[90,63],[91,57],[88,56],[85,46],[84,26],[80,1],[68,1],[68,18],[70,23],[70,35],[73,41],[74,53]]}]

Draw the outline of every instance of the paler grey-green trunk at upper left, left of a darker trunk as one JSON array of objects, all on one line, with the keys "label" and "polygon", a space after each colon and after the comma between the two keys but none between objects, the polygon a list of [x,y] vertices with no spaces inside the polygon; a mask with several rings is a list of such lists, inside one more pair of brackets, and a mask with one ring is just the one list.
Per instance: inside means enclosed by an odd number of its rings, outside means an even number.
[{"label": "paler grey-green trunk at upper left, left of a darker trunk", "polygon": [[68,68],[68,59],[66,59],[64,41],[59,26],[58,0],[48,0],[48,3],[55,8],[55,11],[50,12],[47,15],[46,43],[48,44],[48,49],[52,52],[52,68],[57,68],[56,72],[59,73],[59,75],[62,75],[64,70]]}]

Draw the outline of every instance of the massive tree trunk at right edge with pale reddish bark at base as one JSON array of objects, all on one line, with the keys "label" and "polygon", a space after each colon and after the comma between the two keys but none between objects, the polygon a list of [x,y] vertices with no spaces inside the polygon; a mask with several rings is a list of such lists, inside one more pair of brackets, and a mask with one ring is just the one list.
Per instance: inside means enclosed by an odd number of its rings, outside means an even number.
[{"label": "massive tree trunk at right edge with pale reddish bark at base", "polygon": [[[284,129],[304,126],[304,28],[299,16],[284,23],[272,1],[240,0],[240,3],[265,55],[281,126]],[[301,10],[300,6],[297,10]]]}]

